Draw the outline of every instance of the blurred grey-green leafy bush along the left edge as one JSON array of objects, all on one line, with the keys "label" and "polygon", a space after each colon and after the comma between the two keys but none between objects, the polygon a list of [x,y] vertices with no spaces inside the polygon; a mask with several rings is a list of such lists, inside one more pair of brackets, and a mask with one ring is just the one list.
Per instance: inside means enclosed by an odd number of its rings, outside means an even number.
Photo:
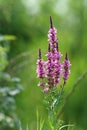
[{"label": "blurred grey-green leafy bush along the left edge", "polygon": [[14,36],[0,36],[0,129],[3,130],[16,126],[18,118],[15,111],[15,96],[22,90],[20,79],[11,76],[6,70],[7,65],[9,65],[7,59],[9,44],[4,45],[7,44],[5,41],[14,38]]}]

